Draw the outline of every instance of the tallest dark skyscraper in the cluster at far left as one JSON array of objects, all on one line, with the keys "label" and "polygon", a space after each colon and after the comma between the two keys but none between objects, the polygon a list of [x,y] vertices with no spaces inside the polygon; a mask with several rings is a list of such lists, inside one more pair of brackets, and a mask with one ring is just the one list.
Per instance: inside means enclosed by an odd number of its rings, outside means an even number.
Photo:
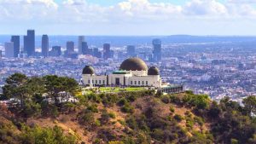
[{"label": "tallest dark skyscraper in the cluster at far left", "polygon": [[35,31],[27,30],[27,35],[25,37],[24,37],[24,51],[26,52],[27,56],[34,55],[35,54]]}]

